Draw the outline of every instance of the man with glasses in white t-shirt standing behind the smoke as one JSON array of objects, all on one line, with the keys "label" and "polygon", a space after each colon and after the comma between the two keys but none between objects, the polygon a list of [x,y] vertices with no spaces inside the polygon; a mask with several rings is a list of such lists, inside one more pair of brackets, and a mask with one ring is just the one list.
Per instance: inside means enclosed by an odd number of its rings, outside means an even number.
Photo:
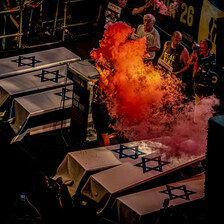
[{"label": "man with glasses in white t-shirt standing behind the smoke", "polygon": [[136,34],[133,38],[146,37],[146,51],[147,55],[145,60],[152,61],[155,58],[156,51],[160,50],[160,35],[155,29],[154,25],[156,19],[152,14],[146,14],[143,17],[143,24],[139,25]]}]

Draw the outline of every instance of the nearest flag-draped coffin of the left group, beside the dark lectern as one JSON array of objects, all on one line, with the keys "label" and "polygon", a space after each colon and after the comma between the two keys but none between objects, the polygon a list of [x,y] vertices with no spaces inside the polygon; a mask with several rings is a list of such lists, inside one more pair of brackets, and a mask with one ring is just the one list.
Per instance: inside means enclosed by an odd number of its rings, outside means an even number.
[{"label": "nearest flag-draped coffin of the left group, beside the dark lectern", "polygon": [[11,143],[26,134],[36,134],[70,126],[72,84],[65,87],[14,99],[14,120],[10,124],[15,132]]}]

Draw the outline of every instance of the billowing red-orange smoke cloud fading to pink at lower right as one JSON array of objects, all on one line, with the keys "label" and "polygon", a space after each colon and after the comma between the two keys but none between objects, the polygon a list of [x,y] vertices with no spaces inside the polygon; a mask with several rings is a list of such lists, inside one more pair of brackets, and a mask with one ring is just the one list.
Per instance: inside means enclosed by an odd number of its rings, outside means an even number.
[{"label": "billowing red-orange smoke cloud fading to pink at lower right", "polygon": [[186,101],[178,79],[165,78],[144,64],[145,38],[130,40],[133,32],[126,23],[110,24],[100,48],[91,52],[97,68],[102,68],[100,88],[110,116],[116,120],[114,128],[130,141],[169,136],[163,140],[172,145],[174,154],[181,145],[186,153],[203,151],[211,108],[217,100],[201,101],[195,114],[194,103]]}]

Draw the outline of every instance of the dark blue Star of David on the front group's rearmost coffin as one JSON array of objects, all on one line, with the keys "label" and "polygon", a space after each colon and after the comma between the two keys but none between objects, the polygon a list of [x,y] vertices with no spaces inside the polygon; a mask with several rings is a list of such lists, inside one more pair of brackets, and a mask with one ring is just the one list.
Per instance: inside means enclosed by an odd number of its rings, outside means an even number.
[{"label": "dark blue Star of David on the front group's rearmost coffin", "polygon": [[144,152],[138,150],[138,146],[128,147],[125,145],[120,145],[119,149],[111,150],[119,154],[119,159],[131,158],[138,159],[139,155],[145,155]]}]

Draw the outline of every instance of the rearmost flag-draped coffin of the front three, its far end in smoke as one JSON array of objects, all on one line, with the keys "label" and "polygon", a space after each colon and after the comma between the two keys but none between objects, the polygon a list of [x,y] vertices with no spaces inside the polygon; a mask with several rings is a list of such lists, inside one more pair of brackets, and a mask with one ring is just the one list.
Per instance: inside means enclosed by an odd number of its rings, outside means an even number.
[{"label": "rearmost flag-draped coffin of the front three, its far end in smoke", "polygon": [[54,178],[61,177],[64,184],[71,183],[68,191],[73,197],[91,174],[134,161],[159,147],[158,142],[143,140],[69,152],[57,168]]}]

